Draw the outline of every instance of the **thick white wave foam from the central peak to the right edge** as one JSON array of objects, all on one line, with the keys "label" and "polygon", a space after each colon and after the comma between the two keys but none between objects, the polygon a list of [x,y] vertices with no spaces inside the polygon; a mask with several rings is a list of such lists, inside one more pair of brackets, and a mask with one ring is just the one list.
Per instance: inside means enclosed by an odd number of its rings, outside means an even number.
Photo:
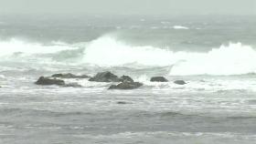
[{"label": "thick white wave foam from the central peak to the right edge", "polygon": [[129,46],[110,36],[91,42],[84,61],[98,66],[170,66],[170,75],[241,75],[256,72],[256,51],[240,43],[207,53],[173,52],[154,46]]}]

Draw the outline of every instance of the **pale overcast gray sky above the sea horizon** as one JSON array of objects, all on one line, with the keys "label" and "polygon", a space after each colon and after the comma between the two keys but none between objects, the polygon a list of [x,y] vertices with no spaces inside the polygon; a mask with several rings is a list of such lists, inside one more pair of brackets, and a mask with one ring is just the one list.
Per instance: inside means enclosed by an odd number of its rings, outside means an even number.
[{"label": "pale overcast gray sky above the sea horizon", "polygon": [[0,0],[4,13],[256,15],[256,0]]}]

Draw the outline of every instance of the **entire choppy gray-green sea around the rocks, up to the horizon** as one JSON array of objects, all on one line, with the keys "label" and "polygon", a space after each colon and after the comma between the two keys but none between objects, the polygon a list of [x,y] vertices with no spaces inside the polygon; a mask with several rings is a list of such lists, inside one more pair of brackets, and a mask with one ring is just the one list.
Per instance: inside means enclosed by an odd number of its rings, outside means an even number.
[{"label": "entire choppy gray-green sea around the rocks, up to the horizon", "polygon": [[[253,16],[1,15],[0,143],[256,143],[255,26]],[[144,86],[34,84],[106,70]]]}]

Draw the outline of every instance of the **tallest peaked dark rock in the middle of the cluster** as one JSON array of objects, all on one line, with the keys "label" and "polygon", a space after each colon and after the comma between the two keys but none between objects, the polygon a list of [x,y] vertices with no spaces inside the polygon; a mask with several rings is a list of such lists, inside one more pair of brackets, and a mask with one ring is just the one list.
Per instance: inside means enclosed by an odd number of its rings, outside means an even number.
[{"label": "tallest peaked dark rock in the middle of the cluster", "polygon": [[121,82],[122,79],[113,75],[111,72],[101,72],[98,73],[96,76],[91,77],[89,81],[96,81],[96,82]]}]

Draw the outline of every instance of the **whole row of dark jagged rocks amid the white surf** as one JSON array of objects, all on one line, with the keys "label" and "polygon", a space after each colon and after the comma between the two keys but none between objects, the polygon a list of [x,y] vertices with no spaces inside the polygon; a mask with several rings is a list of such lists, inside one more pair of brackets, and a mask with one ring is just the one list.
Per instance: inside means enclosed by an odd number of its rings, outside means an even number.
[{"label": "whole row of dark jagged rocks amid the white surf", "polygon": [[[142,87],[144,84],[140,82],[135,82],[132,77],[129,76],[122,76],[118,77],[114,74],[112,74],[109,71],[106,72],[101,72],[95,75],[94,77],[89,77],[86,75],[73,75],[73,74],[55,74],[52,75],[51,77],[39,77],[36,84],[37,85],[58,85],[60,87],[81,87],[77,83],[71,83],[71,84],[66,84],[64,80],[65,78],[88,78],[89,81],[93,82],[115,82],[118,83],[117,85],[112,85],[109,87],[109,89],[135,89],[138,87]],[[168,82],[168,80],[165,77],[152,77],[150,79],[151,82]],[[185,85],[187,84],[184,80],[176,80],[174,81],[177,85]]]}]

